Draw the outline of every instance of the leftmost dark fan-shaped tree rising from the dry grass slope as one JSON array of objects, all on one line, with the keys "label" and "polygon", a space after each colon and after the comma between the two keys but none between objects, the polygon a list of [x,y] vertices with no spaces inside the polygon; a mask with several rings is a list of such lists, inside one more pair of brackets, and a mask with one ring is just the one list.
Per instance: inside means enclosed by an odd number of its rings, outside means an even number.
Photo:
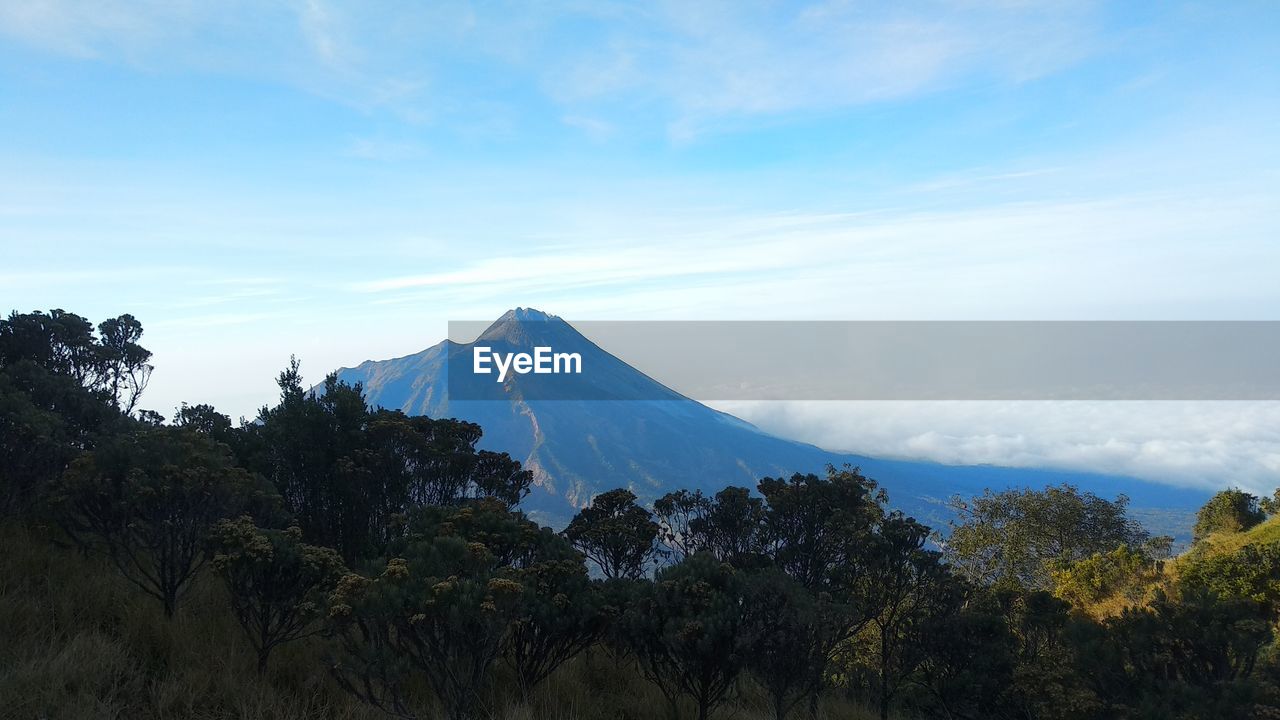
[{"label": "leftmost dark fan-shaped tree rising from the dry grass slope", "polygon": [[172,618],[207,557],[210,528],[261,492],[225,446],[188,429],[155,428],[83,454],[55,483],[50,503],[73,539],[104,552]]}]

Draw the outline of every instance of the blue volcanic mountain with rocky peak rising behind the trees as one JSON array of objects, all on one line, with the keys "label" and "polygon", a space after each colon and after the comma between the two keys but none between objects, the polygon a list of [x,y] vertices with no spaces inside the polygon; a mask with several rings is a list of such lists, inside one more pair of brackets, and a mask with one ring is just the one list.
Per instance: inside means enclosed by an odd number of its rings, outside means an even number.
[{"label": "blue volcanic mountain with rocky peak rising behind the trees", "polygon": [[[479,378],[467,368],[474,347],[576,352],[577,375],[511,373]],[[934,527],[947,519],[952,495],[983,488],[1073,483],[1105,497],[1128,495],[1153,532],[1189,537],[1202,491],[1134,478],[987,465],[941,465],[831,452],[772,436],[732,415],[687,398],[600,348],[558,316],[517,307],[471,343],[444,341],[415,355],[340,368],[338,378],[361,383],[369,402],[410,415],[453,416],[484,428],[481,446],[509,452],[534,471],[526,509],[562,525],[593,496],[628,487],[643,501],[672,489],[714,493],[726,486],[755,487],[765,475],[820,471],[851,464],[888,491],[890,503]],[[480,382],[483,384],[474,384]],[[452,386],[452,387],[451,387]],[[451,398],[451,391],[454,396]]]}]

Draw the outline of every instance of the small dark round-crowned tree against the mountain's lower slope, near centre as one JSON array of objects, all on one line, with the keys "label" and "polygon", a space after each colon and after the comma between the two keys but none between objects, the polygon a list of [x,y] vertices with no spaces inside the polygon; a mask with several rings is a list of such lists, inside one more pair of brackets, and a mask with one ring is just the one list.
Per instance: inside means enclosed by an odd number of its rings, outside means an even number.
[{"label": "small dark round-crowned tree against the mountain's lower slope, near centre", "polygon": [[595,496],[564,528],[564,537],[609,579],[640,578],[658,550],[658,524],[623,488]]}]

